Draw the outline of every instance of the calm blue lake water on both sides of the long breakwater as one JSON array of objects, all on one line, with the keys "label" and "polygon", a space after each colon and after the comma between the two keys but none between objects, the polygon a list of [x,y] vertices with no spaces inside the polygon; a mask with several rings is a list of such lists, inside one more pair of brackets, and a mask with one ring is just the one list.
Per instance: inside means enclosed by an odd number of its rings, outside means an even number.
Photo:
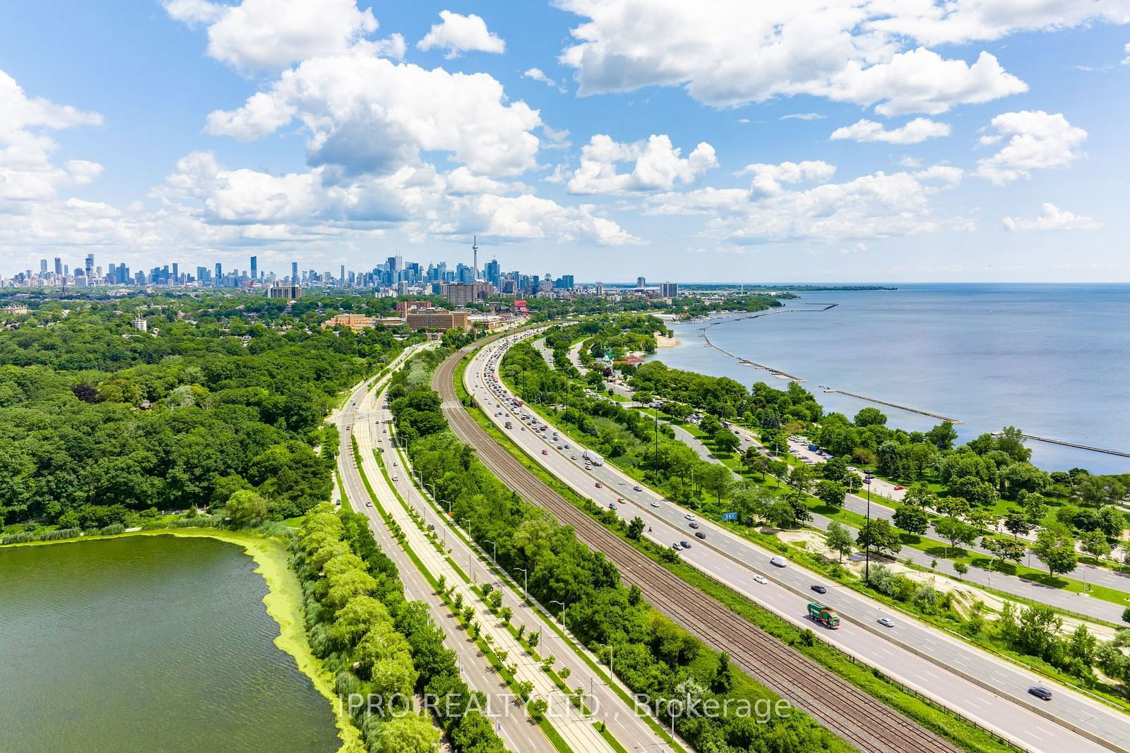
[{"label": "calm blue lake water on both sides of the long breakwater", "polygon": [[[816,304],[836,304],[817,310]],[[1130,452],[1130,286],[937,284],[805,292],[782,313],[710,329],[727,351],[803,377],[827,410],[866,405],[829,386],[960,419],[962,439],[1005,426]],[[707,322],[710,324],[712,322]],[[654,358],[749,386],[785,380],[704,347],[703,323],[676,324],[683,344]],[[888,426],[938,419],[877,405]],[[1130,458],[1029,440],[1048,469],[1124,473]]]}]

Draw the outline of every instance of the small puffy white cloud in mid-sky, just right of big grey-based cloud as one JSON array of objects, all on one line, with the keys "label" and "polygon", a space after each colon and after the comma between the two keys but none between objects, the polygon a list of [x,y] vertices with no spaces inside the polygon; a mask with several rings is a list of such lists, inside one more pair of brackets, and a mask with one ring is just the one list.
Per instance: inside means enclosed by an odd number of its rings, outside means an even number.
[{"label": "small puffy white cloud in mid-sky, just right of big grey-based cloud", "polygon": [[[581,166],[566,187],[570,193],[629,193],[669,191],[676,183],[688,184],[718,167],[714,147],[705,141],[687,157],[671,146],[666,134],[652,134],[646,141],[621,143],[597,134],[581,149]],[[629,173],[617,172],[619,163],[633,163]]]}]

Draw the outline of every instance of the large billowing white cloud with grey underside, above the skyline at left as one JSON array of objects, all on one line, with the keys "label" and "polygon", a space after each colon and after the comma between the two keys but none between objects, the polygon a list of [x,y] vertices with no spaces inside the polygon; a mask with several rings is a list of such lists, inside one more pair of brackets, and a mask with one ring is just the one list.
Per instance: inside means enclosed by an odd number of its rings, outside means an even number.
[{"label": "large billowing white cloud with grey underside, above the skyline at left", "polygon": [[312,165],[348,173],[391,172],[420,151],[484,175],[534,166],[541,124],[536,110],[507,102],[486,73],[450,73],[376,58],[364,49],[304,61],[235,111],[208,116],[208,131],[238,139],[271,133],[298,119],[310,132]]}]

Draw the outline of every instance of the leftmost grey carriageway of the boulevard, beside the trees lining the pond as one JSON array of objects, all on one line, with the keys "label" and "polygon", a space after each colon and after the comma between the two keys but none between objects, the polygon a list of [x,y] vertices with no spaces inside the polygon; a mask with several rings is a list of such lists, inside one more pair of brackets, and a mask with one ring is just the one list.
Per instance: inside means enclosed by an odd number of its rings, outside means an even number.
[{"label": "leftmost grey carriageway of the boulevard, beside the trees lining the pond", "polygon": [[[412,349],[412,352],[417,349]],[[408,351],[401,353],[390,366],[392,368],[400,366],[408,356],[410,356]],[[388,376],[381,383],[383,384],[386,380]],[[341,481],[346,488],[349,504],[354,510],[368,517],[370,529],[373,532],[377,544],[395,562],[400,581],[405,587],[405,597],[428,605],[434,622],[444,632],[444,646],[453,649],[459,657],[459,666],[462,669],[463,680],[472,690],[480,691],[487,697],[487,706],[494,716],[495,730],[502,736],[506,747],[515,751],[515,753],[538,753],[539,751],[551,750],[553,746],[541,733],[541,729],[530,723],[524,711],[520,709],[512,710],[507,707],[511,702],[510,689],[497,673],[495,673],[486,657],[479,654],[478,647],[473,641],[469,640],[467,632],[455,620],[454,615],[452,615],[450,607],[443,603],[427,579],[416,568],[416,564],[389,533],[376,509],[365,504],[368,500],[368,492],[360,480],[357,466],[354,464],[349,437],[351,435],[351,427],[357,426],[359,428],[363,426],[359,422],[364,419],[364,415],[353,410],[354,404],[362,404],[373,384],[372,380],[366,380],[355,387],[342,409],[331,417],[331,421],[338,426],[341,436],[338,471],[341,474]]]}]

